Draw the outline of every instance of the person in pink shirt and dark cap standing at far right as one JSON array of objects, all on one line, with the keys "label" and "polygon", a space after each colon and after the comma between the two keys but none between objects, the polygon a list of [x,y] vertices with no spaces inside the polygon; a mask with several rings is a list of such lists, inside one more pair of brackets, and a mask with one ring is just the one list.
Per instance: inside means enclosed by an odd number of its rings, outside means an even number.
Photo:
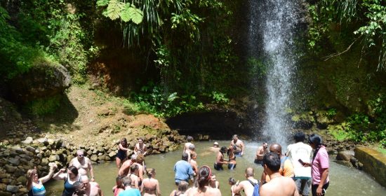
[{"label": "person in pink shirt and dark cap standing at far right", "polygon": [[321,196],[326,193],[326,189],[330,184],[328,178],[329,162],[326,146],[321,143],[321,137],[317,134],[312,134],[308,137],[308,143],[314,149],[312,163],[304,162],[303,166],[312,167],[312,195]]}]

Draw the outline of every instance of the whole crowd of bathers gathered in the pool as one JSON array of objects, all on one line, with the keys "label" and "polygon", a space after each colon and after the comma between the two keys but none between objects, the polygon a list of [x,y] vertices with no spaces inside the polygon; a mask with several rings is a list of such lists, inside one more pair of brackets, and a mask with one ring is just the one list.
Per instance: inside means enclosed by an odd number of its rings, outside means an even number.
[{"label": "whole crowd of bathers gathered in the pool", "polygon": [[[229,178],[229,191],[235,195],[324,195],[329,185],[328,154],[322,139],[317,134],[308,137],[302,132],[294,134],[295,144],[287,147],[282,153],[280,144],[263,142],[255,153],[255,164],[263,167],[260,181],[255,179],[253,167],[245,169],[245,180],[237,181]],[[212,168],[203,165],[199,167],[197,153],[192,143],[193,138],[187,137],[181,160],[175,163],[176,189],[170,196],[187,195],[222,195]],[[128,159],[128,144],[121,139],[118,144],[116,163],[118,167],[116,186],[112,188],[114,196],[161,195],[159,181],[156,179],[156,169],[146,168],[146,145],[143,139],[138,139],[134,154]],[[245,152],[244,142],[234,135],[229,146],[220,147],[218,142],[213,144],[210,151],[215,153],[213,169],[236,169],[236,158],[241,158]],[[313,151],[314,150],[314,151]],[[103,196],[99,184],[95,181],[93,165],[86,158],[83,150],[76,151],[76,158],[69,162],[67,169],[60,169],[54,173],[57,166],[50,164],[48,174],[39,179],[36,168],[27,172],[28,195],[46,195],[44,183],[49,179],[64,181],[62,195]],[[144,177],[147,176],[147,177]],[[244,194],[242,193],[244,191]]]}]

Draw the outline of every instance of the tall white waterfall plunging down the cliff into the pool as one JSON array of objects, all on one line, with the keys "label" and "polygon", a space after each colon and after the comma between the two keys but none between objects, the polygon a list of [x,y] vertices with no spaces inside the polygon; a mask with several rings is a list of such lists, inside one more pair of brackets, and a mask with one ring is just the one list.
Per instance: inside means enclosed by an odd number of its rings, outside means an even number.
[{"label": "tall white waterfall plunging down the cliff into the pool", "polygon": [[298,3],[297,0],[250,0],[250,12],[258,13],[258,18],[251,17],[249,34],[256,36],[255,31],[260,34],[261,41],[255,45],[260,44],[260,55],[264,56],[267,66],[266,120],[262,134],[270,143],[277,142],[281,146],[286,146],[289,138],[286,110],[291,107],[296,69],[294,36],[298,24]]}]

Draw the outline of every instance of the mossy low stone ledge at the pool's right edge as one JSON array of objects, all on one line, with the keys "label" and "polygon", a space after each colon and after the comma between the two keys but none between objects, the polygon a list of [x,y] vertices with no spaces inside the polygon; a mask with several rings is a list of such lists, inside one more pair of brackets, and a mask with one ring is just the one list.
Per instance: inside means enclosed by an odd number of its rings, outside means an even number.
[{"label": "mossy low stone ledge at the pool's right edge", "polygon": [[386,155],[366,147],[357,147],[354,151],[355,158],[363,164],[364,171],[386,187]]}]

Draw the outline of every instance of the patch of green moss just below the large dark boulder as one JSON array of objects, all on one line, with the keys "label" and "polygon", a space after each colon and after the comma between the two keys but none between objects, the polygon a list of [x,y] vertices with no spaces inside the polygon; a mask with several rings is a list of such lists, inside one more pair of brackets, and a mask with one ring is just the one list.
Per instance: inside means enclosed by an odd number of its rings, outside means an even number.
[{"label": "patch of green moss just below the large dark boulder", "polygon": [[61,95],[46,99],[36,99],[26,104],[25,109],[27,109],[27,112],[32,116],[44,116],[55,112],[60,106],[61,99]]}]

